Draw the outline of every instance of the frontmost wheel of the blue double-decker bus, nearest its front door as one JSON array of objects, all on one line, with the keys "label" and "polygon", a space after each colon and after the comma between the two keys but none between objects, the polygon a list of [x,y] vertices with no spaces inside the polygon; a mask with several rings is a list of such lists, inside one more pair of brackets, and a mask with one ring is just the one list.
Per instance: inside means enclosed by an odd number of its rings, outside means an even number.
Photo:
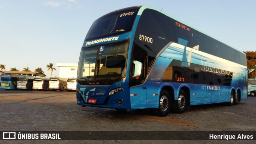
[{"label": "frontmost wheel of the blue double-decker bus, nearest its front door", "polygon": [[167,116],[171,109],[170,94],[167,90],[161,90],[158,108],[155,109],[157,116]]}]

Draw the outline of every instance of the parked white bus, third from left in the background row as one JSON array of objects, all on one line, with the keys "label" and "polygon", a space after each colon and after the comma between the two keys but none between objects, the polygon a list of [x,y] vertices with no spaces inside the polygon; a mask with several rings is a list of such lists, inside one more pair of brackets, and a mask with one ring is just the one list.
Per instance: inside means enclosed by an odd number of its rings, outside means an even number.
[{"label": "parked white bus, third from left in the background row", "polygon": [[33,90],[48,90],[49,89],[49,79],[36,77],[33,81]]}]

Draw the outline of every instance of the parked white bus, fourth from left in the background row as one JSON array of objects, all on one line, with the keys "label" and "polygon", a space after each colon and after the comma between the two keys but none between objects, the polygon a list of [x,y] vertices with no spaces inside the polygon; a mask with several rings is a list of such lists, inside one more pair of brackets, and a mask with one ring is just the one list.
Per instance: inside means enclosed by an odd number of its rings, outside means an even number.
[{"label": "parked white bus, fourth from left in the background row", "polygon": [[59,78],[59,77],[50,77],[49,80],[49,90],[66,90],[67,89],[67,78]]}]

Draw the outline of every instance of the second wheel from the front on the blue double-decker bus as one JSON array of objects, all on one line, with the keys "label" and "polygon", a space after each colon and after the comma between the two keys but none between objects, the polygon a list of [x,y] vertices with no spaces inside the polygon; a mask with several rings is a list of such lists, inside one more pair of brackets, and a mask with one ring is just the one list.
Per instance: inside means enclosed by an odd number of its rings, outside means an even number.
[{"label": "second wheel from the front on the blue double-decker bus", "polygon": [[172,110],[175,113],[185,112],[188,106],[188,96],[184,90],[180,90],[178,100],[174,100],[172,106]]}]

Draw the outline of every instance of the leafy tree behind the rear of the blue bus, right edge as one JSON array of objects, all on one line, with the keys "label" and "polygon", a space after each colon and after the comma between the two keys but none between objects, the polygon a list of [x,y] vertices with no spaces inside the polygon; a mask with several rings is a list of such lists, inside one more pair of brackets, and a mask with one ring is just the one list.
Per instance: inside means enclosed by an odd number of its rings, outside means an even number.
[{"label": "leafy tree behind the rear of the blue bus, right edge", "polygon": [[247,59],[248,78],[256,78],[256,52],[244,52]]}]

